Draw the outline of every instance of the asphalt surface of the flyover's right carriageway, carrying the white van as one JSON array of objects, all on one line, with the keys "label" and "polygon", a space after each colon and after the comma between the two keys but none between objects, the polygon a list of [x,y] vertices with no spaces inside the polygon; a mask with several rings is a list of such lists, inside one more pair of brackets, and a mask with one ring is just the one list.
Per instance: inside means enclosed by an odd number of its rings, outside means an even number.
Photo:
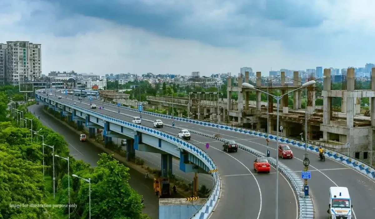
[{"label": "asphalt surface of the flyover's right carriageway, carrying the white van", "polygon": [[[84,100],[84,103],[90,103]],[[118,110],[116,107],[105,106],[106,109]],[[121,109],[121,112],[127,115],[139,116],[138,112]],[[160,119],[156,116],[142,114],[144,119]],[[162,119],[165,124],[171,124],[171,119]],[[195,125],[187,122],[175,121],[175,125],[181,128],[188,128],[207,134],[216,134],[217,128],[204,127],[202,125]],[[233,131],[220,130],[221,137],[225,139],[235,140],[243,145],[247,145],[255,150],[264,151],[266,153],[266,140],[250,136],[248,134],[236,133]],[[193,138],[194,139],[194,138]],[[212,141],[213,139],[211,139]],[[271,156],[276,157],[276,142],[270,142]],[[302,160],[305,150],[292,147],[294,158],[290,160],[281,160],[282,163],[287,165],[295,172],[301,172],[303,169]],[[374,218],[375,215],[375,181],[366,177],[365,175],[357,172],[356,170],[345,166],[335,160],[327,159],[325,162],[320,162],[317,154],[309,152],[311,180],[309,180],[310,195],[313,198],[315,206],[315,218],[326,219],[328,217],[328,199],[329,187],[344,186],[348,187],[352,203],[353,214],[355,219]],[[273,181],[272,181],[273,182]],[[270,185],[272,188],[273,185]],[[279,188],[279,192],[283,187]],[[263,191],[263,190],[262,190]],[[290,192],[290,191],[288,191]],[[279,194],[283,196],[283,194]],[[288,199],[289,200],[289,199]],[[366,204],[363,204],[366,203]],[[280,202],[279,202],[280,204]],[[279,206],[279,212],[284,208]],[[271,217],[269,217],[271,218]]]}]

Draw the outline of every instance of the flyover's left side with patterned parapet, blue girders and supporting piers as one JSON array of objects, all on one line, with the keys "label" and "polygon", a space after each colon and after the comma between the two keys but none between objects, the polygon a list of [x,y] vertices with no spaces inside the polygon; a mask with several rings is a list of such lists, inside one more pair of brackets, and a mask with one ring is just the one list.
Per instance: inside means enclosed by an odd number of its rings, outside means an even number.
[{"label": "flyover's left side with patterned parapet, blue girders and supporting piers", "polygon": [[[192,218],[208,218],[216,206],[220,190],[220,176],[216,164],[210,156],[200,148],[185,140],[171,136],[171,134],[142,125],[132,124],[111,115],[95,112],[93,110],[66,103],[55,96],[36,93],[36,100],[42,101],[49,108],[58,111],[61,115],[67,115],[69,121],[77,121],[90,128],[90,133],[95,128],[104,129],[105,142],[112,137],[121,137],[127,140],[127,159],[135,156],[135,150],[149,151],[162,154],[161,166],[163,177],[172,173],[172,156],[180,159],[180,169],[186,172],[198,172],[211,174],[214,187],[211,195],[204,204],[195,211]],[[65,99],[66,100],[66,99]],[[90,108],[90,107],[88,107]]]}]

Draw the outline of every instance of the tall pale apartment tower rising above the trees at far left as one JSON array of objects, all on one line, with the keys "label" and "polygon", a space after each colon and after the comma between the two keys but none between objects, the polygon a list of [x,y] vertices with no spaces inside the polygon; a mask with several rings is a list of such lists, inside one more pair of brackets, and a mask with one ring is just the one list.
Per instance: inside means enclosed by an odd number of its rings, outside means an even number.
[{"label": "tall pale apartment tower rising above the trees at far left", "polygon": [[38,79],[42,74],[41,44],[7,41],[6,78],[10,84]]}]

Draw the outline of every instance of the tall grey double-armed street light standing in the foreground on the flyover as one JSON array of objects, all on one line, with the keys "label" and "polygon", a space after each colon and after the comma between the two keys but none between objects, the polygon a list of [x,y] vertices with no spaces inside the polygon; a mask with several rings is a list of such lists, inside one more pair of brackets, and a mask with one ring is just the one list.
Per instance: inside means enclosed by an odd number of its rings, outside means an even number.
[{"label": "tall grey double-armed street light standing in the foreground on the flyover", "polygon": [[[281,96],[275,96],[273,94],[269,94],[265,91],[262,91],[260,89],[257,89],[254,87],[254,85],[251,85],[249,83],[242,83],[242,86],[244,88],[250,88],[250,89],[254,89],[256,91],[259,91],[259,92],[262,92],[264,94],[267,94],[267,95],[270,95],[271,97],[275,98],[277,100],[277,134],[276,134],[276,144],[277,144],[277,148],[276,148],[276,151],[278,150],[278,147],[279,147],[279,103],[280,103],[280,100],[282,97],[284,97],[285,95],[288,95],[294,91],[297,91],[301,88],[305,88],[306,86],[310,86],[310,85],[314,85],[316,82],[314,80],[312,81],[309,81],[309,82],[306,82],[306,83],[303,83],[302,86],[300,88],[297,88],[297,89],[294,89],[293,91],[290,91],[290,92],[287,92]],[[276,154],[276,209],[275,209],[275,219],[278,219],[278,214],[279,214],[279,156],[278,154]]]}]

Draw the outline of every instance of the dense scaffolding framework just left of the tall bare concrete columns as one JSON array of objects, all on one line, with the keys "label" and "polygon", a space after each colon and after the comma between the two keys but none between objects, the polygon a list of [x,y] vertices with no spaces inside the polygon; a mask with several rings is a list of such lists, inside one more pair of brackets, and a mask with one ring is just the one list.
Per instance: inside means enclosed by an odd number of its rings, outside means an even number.
[{"label": "dense scaffolding framework just left of the tall bare concrete columns", "polygon": [[223,115],[221,92],[190,92],[188,117],[192,119],[217,121]]}]

